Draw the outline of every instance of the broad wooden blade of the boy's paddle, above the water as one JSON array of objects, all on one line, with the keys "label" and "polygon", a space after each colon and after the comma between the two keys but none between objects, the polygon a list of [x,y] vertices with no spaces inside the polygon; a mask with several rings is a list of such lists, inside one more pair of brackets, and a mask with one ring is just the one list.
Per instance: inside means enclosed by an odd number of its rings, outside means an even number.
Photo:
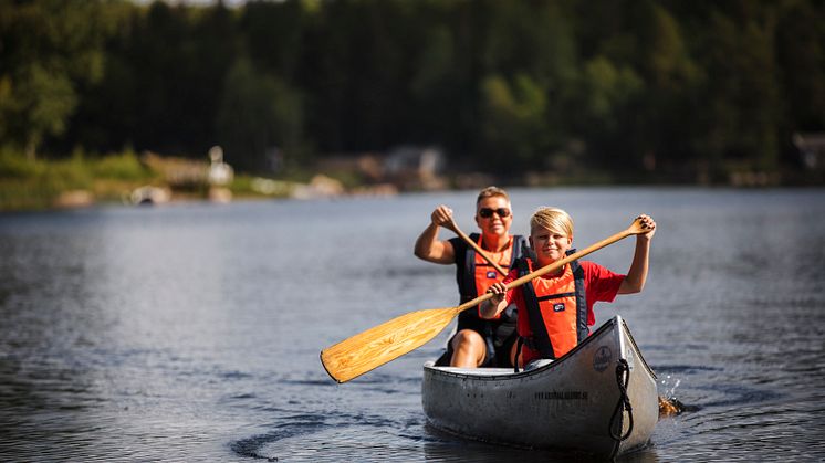
[{"label": "broad wooden blade of the boy's paddle, above the water", "polygon": [[346,382],[421,347],[457,314],[457,307],[410,312],[327,347],[321,362],[334,380]]}]

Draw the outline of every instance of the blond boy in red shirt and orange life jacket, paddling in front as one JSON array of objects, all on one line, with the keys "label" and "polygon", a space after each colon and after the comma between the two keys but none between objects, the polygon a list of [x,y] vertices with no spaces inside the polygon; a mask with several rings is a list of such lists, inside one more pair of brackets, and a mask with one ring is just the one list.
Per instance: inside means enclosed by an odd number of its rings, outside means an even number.
[{"label": "blond boy in red shirt and orange life jacket, paddling in front", "polygon": [[539,358],[562,357],[589,334],[587,327],[596,322],[593,314],[596,302],[613,302],[617,294],[638,293],[645,287],[656,222],[644,214],[638,219],[650,231],[636,235],[636,252],[627,275],[593,262],[574,261],[554,274],[507,291],[504,285],[513,280],[564,259],[573,244],[573,220],[567,212],[541,208],[533,214],[530,245],[535,251],[535,262],[530,259],[516,262],[516,269],[507,278],[488,290],[493,297],[480,305],[481,316],[488,318],[515,303],[520,344],[523,343],[520,365]]}]

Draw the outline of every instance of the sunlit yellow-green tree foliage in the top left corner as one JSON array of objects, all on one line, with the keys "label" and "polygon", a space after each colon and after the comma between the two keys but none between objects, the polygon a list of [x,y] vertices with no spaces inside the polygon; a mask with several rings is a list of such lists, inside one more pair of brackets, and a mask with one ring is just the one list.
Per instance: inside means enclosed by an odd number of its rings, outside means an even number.
[{"label": "sunlit yellow-green tree foliage in the top left corner", "polygon": [[0,1],[0,140],[30,158],[60,136],[80,85],[103,75],[105,8],[98,1]]}]

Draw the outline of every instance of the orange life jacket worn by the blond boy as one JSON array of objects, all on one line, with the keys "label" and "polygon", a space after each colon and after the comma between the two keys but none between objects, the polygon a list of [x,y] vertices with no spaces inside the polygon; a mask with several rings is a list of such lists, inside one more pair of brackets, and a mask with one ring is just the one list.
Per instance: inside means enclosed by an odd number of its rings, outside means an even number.
[{"label": "orange life jacket worn by the blond boy", "polygon": [[[523,276],[532,272],[533,264],[522,259],[516,266],[519,276]],[[560,276],[537,277],[525,283],[522,292],[532,336],[519,334],[542,358],[562,357],[589,334],[584,270],[577,261],[565,265]]]}]

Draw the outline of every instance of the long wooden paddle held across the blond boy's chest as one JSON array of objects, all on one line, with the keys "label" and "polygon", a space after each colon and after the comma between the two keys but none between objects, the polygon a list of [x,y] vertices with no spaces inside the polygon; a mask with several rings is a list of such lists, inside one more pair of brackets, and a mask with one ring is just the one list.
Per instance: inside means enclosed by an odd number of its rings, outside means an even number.
[{"label": "long wooden paddle held across the blond boy's chest", "polygon": [[[556,271],[571,261],[582,259],[594,251],[631,234],[640,234],[648,231],[648,229],[641,225],[639,220],[635,220],[627,230],[514,280],[507,284],[507,288],[512,290],[536,276]],[[492,297],[492,293],[484,293],[457,307],[429,308],[410,312],[409,314],[393,318],[389,322],[385,322],[322,350],[321,364],[323,364],[326,372],[334,380],[346,382],[417,349],[441,333],[456,315],[477,306],[490,297]]]}]

